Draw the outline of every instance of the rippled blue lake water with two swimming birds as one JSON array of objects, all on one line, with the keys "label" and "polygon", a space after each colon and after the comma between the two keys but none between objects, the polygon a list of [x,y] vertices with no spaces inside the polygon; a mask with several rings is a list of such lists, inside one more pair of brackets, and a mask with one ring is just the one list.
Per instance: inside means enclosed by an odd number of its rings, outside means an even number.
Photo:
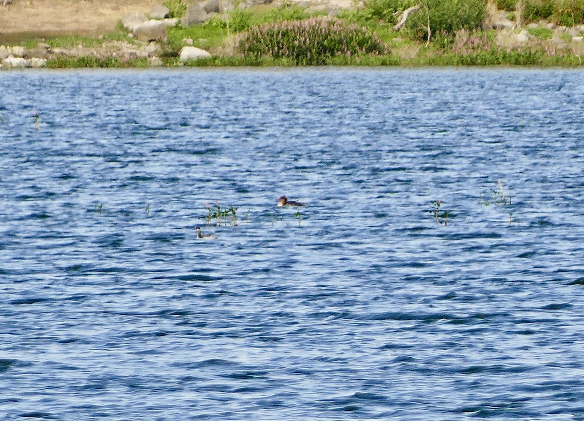
[{"label": "rippled blue lake water with two swimming birds", "polygon": [[583,81],[0,72],[0,419],[584,419]]}]

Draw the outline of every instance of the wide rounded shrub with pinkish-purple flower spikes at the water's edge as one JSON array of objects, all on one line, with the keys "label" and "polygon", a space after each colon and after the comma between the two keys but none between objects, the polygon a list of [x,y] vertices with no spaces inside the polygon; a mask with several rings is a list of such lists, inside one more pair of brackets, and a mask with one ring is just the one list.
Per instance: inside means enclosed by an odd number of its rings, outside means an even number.
[{"label": "wide rounded shrub with pinkish-purple flower spikes at the water's edge", "polygon": [[365,27],[322,18],[252,27],[239,42],[239,50],[244,55],[284,58],[297,65],[322,65],[337,55],[388,53]]}]

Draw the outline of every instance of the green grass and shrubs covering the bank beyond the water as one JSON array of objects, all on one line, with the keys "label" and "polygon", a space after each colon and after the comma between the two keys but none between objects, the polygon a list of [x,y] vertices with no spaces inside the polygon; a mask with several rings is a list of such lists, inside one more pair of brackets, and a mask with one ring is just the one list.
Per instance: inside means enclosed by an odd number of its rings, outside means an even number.
[{"label": "green grass and shrubs covering the bank beyond the water", "polygon": [[[166,5],[174,16],[182,0]],[[418,6],[407,16],[402,13]],[[492,29],[496,20],[513,27]],[[403,21],[403,22],[402,22]],[[396,25],[403,25],[396,29]],[[335,16],[298,5],[256,6],[232,11],[200,25],[168,29],[158,45],[158,65],[529,65],[579,67],[584,55],[584,0],[366,0]],[[51,47],[96,48],[112,40],[129,43],[120,26],[99,37],[50,37]],[[189,41],[185,41],[189,40]],[[34,48],[39,39],[18,44]],[[179,61],[186,43],[211,57]],[[49,58],[48,68],[148,67],[147,58],[116,54]]]}]

